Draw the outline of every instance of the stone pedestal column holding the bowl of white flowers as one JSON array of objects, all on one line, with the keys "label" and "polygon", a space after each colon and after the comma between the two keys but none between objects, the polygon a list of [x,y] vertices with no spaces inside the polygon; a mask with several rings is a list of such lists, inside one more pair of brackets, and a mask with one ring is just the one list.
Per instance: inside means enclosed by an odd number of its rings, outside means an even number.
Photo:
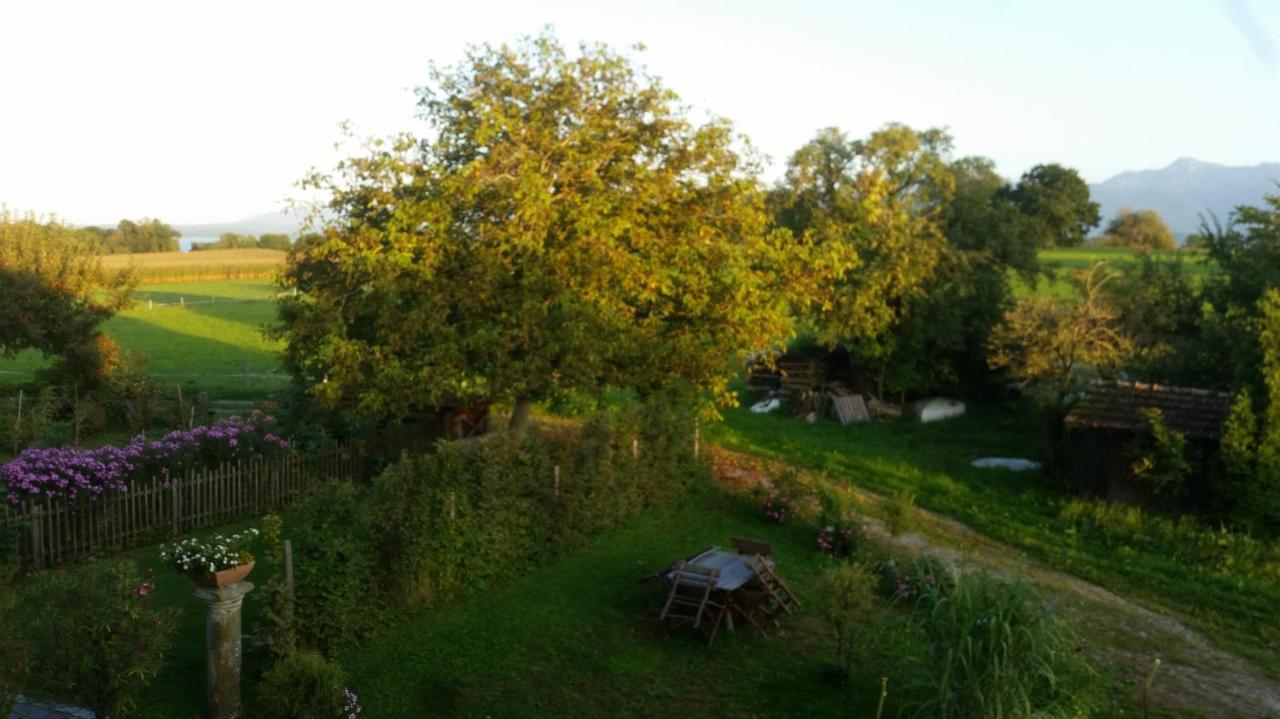
[{"label": "stone pedestal column holding the bowl of white flowers", "polygon": [[241,715],[241,604],[252,589],[253,582],[236,582],[220,589],[196,590],[196,596],[209,604],[205,619],[207,719],[238,719]]}]

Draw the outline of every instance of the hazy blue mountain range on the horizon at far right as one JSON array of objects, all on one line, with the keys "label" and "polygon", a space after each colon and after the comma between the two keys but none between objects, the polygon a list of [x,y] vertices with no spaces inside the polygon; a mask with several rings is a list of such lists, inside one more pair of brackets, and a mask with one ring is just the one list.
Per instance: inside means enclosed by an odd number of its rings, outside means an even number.
[{"label": "hazy blue mountain range on the horizon at far right", "polygon": [[[1102,226],[1121,207],[1155,210],[1179,239],[1199,230],[1199,215],[1220,220],[1238,205],[1261,205],[1263,194],[1280,193],[1280,162],[1230,168],[1183,157],[1162,170],[1120,173],[1089,186],[1102,206]],[[1101,230],[1101,228],[1100,228]]]}]

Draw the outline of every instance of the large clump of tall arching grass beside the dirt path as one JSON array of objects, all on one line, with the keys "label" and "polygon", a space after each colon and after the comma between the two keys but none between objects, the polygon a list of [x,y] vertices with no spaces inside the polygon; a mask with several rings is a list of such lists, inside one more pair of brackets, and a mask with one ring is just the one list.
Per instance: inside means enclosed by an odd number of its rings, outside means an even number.
[{"label": "large clump of tall arching grass beside the dirt path", "polygon": [[[932,572],[922,567],[918,572]],[[937,719],[1076,716],[1088,711],[1092,669],[1075,633],[1021,580],[955,567],[924,574],[909,623],[923,637],[906,673],[916,715]]]}]

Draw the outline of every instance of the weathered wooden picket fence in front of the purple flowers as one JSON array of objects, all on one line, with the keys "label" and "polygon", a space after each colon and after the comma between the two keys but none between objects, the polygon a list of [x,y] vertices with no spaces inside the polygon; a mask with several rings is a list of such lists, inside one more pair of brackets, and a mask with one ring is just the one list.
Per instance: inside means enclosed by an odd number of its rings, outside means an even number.
[{"label": "weathered wooden picket fence in front of the purple flowers", "polygon": [[227,463],[172,481],[136,481],[129,491],[95,502],[0,500],[0,531],[15,531],[19,558],[38,569],[274,512],[326,482],[366,480],[401,452],[428,448],[422,438],[352,441]]}]

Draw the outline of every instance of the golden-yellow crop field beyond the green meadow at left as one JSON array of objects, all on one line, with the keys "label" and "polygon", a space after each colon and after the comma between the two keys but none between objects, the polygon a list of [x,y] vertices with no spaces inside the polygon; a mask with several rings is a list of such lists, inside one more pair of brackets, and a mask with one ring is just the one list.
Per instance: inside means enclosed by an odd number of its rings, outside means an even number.
[{"label": "golden-yellow crop field beyond the green meadow at left", "polygon": [[201,252],[142,252],[108,255],[108,269],[133,266],[145,284],[191,280],[268,279],[280,264],[279,249],[205,249]]}]

